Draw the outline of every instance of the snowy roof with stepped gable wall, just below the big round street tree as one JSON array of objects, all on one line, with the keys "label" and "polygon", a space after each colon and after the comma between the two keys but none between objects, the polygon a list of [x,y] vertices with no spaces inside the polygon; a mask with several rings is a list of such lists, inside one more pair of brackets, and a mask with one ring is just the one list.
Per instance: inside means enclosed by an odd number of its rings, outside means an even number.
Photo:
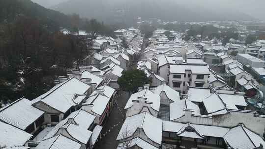
[{"label": "snowy roof with stepped gable wall, just below the big round street tree", "polygon": [[130,96],[129,100],[127,101],[124,109],[128,109],[133,106],[133,101],[132,100],[139,100],[138,98],[146,98],[146,102],[152,102],[151,108],[159,111],[160,109],[160,96],[157,94],[154,94],[148,89],[144,89],[140,92],[134,93]]}]

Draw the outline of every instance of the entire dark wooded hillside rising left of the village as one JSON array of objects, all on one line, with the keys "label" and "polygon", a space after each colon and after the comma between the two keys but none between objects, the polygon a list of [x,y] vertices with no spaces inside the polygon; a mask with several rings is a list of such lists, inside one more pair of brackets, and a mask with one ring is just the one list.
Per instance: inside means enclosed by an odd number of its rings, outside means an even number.
[{"label": "entire dark wooded hillside rising left of the village", "polygon": [[[87,55],[87,45],[60,27],[79,28],[67,16],[30,0],[0,0],[0,102],[34,99]],[[74,20],[74,21],[72,21]],[[1,106],[1,104],[0,104]]]}]

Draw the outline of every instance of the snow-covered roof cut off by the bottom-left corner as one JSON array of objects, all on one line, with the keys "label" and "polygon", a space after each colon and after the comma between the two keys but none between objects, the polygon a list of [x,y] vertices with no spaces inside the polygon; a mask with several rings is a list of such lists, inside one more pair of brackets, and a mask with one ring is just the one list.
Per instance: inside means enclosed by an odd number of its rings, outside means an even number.
[{"label": "snow-covered roof cut off by the bottom-left corner", "polygon": [[0,145],[6,147],[23,146],[31,134],[0,121]]}]

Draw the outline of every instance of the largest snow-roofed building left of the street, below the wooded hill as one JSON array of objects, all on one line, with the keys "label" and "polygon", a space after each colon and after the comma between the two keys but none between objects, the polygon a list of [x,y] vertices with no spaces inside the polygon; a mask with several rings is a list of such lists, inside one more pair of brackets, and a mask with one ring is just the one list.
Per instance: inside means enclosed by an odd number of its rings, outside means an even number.
[{"label": "largest snow-roofed building left of the street, below the wooded hill", "polygon": [[58,124],[71,112],[79,109],[89,93],[89,85],[72,77],[32,100],[32,105],[47,112],[48,124]]}]

